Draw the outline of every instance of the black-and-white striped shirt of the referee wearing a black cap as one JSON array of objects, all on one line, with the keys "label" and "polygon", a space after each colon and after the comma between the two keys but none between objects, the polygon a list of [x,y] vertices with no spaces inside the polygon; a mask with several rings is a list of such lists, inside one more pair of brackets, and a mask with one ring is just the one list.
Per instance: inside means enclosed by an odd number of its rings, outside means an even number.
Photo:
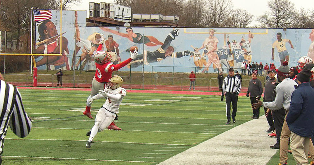
[{"label": "black-and-white striped shirt of the referee wearing a black cap", "polygon": [[241,90],[241,82],[240,82],[239,77],[235,75],[233,77],[230,77],[229,75],[225,77],[224,83],[221,89],[221,95],[224,95],[225,92],[239,94],[240,90]]}]

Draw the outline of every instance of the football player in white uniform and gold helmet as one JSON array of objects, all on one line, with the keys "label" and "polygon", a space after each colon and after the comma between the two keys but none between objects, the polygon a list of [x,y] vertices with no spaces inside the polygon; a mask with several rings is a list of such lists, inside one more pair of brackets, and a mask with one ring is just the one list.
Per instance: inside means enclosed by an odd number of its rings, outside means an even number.
[{"label": "football player in white uniform and gold helmet", "polygon": [[93,128],[86,134],[89,136],[86,143],[87,148],[90,148],[97,132],[103,131],[113,120],[118,119],[120,104],[123,97],[127,95],[127,90],[121,87],[122,83],[123,79],[118,75],[114,75],[109,79],[109,83],[107,83],[104,90],[101,90],[100,93],[89,98],[89,103],[92,103],[96,99],[107,97],[106,102],[101,106],[95,117]]}]

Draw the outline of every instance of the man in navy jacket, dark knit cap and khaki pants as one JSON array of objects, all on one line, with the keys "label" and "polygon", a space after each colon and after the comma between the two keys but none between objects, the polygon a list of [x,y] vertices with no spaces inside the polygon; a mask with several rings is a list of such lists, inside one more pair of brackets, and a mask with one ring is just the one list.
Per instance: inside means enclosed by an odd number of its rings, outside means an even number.
[{"label": "man in navy jacket, dark knit cap and khaki pants", "polygon": [[[291,131],[290,148],[297,164],[308,164],[310,137],[314,136],[314,89],[310,86],[311,71],[302,70],[297,75],[298,86],[292,93],[290,110],[287,114],[287,124]],[[312,164],[312,163],[311,163]]]}]

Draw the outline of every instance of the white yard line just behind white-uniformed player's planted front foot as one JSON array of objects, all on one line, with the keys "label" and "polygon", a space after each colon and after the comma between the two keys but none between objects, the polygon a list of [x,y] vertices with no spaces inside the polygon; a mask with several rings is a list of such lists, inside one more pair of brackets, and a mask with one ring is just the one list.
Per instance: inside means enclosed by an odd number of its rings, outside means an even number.
[{"label": "white yard line just behind white-uniformed player's planted front foot", "polygon": [[[6,138],[11,140],[53,140],[53,141],[85,141],[86,140],[67,140],[67,139],[17,139],[17,138]],[[139,143],[139,142],[127,142],[127,141],[100,141],[95,140],[94,142],[107,142],[107,143],[130,143],[130,144],[154,144],[154,145],[171,145],[171,146],[193,146],[190,144],[165,144],[165,143]]]}]

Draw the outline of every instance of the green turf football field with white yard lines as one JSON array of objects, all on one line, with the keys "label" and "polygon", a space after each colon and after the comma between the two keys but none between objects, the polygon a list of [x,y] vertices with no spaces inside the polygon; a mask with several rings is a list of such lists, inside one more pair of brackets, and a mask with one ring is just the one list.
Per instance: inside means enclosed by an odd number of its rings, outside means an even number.
[{"label": "green turf football field with white yard lines", "polygon": [[[245,96],[239,97],[237,123],[225,125],[225,102],[220,101],[220,96],[127,93],[116,121],[122,130],[98,133],[95,143],[87,149],[85,134],[94,120],[82,112],[89,91],[20,92],[33,119],[33,128],[24,139],[8,130],[3,153],[5,165],[157,164],[252,116],[249,98]],[[94,117],[104,101],[93,103]],[[268,165],[278,164],[278,160],[277,152]],[[289,164],[293,163],[291,156]]]}]

